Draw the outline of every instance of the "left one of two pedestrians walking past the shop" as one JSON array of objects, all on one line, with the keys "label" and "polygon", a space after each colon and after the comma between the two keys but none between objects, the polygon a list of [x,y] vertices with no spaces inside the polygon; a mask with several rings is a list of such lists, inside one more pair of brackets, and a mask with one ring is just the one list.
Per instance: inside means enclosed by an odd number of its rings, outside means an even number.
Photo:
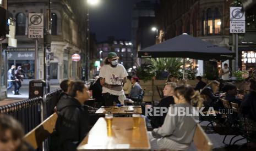
[{"label": "left one of two pedestrians walking past the shop", "polygon": [[18,95],[18,93],[17,93],[17,91],[18,91],[18,89],[17,89],[18,88],[17,81],[19,79],[17,79],[16,76],[15,76],[15,68],[16,68],[16,66],[12,65],[12,67],[8,70],[8,88],[7,88],[7,90],[12,88],[13,85],[14,85],[13,94],[14,95]]}]

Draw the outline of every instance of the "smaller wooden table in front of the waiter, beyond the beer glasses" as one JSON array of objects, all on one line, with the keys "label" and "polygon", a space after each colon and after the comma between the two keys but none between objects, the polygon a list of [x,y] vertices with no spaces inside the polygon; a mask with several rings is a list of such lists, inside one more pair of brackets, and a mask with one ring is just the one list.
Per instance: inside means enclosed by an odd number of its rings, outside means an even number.
[{"label": "smaller wooden table in front of the waiter, beyond the beer glasses", "polygon": [[116,115],[132,115],[132,114],[142,114],[141,106],[122,106],[122,107],[116,107],[116,106],[110,106],[105,107],[102,106],[96,111],[96,114],[105,114],[107,112],[110,112],[112,114]]}]

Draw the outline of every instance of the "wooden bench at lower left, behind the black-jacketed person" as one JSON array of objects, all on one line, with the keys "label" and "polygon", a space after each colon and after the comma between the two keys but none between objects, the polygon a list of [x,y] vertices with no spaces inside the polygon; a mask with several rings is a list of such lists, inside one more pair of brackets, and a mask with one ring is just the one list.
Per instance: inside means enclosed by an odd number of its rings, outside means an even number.
[{"label": "wooden bench at lower left, behind the black-jacketed person", "polygon": [[36,126],[35,129],[31,130],[24,136],[24,140],[31,144],[32,147],[38,148],[42,142],[51,135],[55,129],[56,120],[58,115],[53,113],[50,117],[44,120],[40,125]]}]

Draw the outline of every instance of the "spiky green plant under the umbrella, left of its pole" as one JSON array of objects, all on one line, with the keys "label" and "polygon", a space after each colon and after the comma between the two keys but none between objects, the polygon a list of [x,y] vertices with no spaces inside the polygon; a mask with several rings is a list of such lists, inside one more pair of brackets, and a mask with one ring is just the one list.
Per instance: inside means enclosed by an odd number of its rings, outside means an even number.
[{"label": "spiky green plant under the umbrella, left of its pole", "polygon": [[182,66],[182,59],[180,58],[156,58],[148,59],[151,72],[156,76],[156,79],[165,79],[168,73],[179,77],[182,73],[180,71]]}]

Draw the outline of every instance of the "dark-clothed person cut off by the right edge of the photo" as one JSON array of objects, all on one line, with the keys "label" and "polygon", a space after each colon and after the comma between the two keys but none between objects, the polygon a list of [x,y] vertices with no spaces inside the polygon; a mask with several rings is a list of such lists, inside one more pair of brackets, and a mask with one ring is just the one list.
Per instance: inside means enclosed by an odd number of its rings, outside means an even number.
[{"label": "dark-clothed person cut off by the right edge of the photo", "polygon": [[250,78],[250,92],[244,97],[240,110],[245,117],[256,122],[256,79]]}]

